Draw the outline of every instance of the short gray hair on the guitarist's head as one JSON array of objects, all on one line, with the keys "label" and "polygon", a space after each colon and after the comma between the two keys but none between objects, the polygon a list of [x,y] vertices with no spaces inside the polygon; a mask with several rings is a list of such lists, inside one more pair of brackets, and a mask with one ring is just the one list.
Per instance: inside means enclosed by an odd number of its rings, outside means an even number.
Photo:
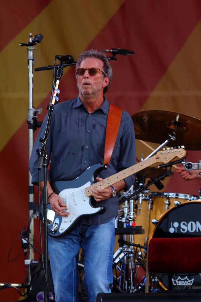
[{"label": "short gray hair on the guitarist's head", "polygon": [[[83,59],[86,59],[86,58],[96,58],[96,59],[99,59],[103,62],[103,72],[105,73],[105,76],[108,76],[110,78],[110,81],[109,81],[108,85],[106,87],[104,87],[104,89],[103,89],[103,94],[105,94],[105,92],[108,91],[109,86],[110,86],[111,81],[112,81],[112,68],[111,68],[111,65],[108,61],[107,56],[102,51],[98,52],[97,50],[94,50],[94,49],[86,50],[83,53],[81,53],[79,55],[79,57],[77,58],[76,69],[80,67],[80,63],[82,62]],[[76,79],[77,79],[77,74],[75,74],[75,76],[76,76]]]}]

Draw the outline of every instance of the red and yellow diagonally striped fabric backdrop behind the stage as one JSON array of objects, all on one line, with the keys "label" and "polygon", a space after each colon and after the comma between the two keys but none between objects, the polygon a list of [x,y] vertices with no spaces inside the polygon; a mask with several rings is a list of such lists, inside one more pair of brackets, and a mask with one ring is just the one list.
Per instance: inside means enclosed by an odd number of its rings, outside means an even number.
[{"label": "red and yellow diagonally striped fabric backdrop behind the stage", "polygon": [[[34,50],[34,68],[53,65],[56,54],[71,54],[76,59],[91,48],[134,50],[134,56],[117,55],[117,61],[111,61],[114,76],[106,94],[108,101],[130,115],[166,110],[201,119],[200,18],[200,0],[4,2],[0,10],[0,282],[21,283],[25,277],[24,253],[12,263],[7,260],[11,246],[28,224],[29,210],[27,50],[19,43],[28,42],[30,32],[44,36]],[[52,70],[34,71],[33,81],[33,105],[42,106],[38,116],[42,121],[50,98]],[[74,66],[64,69],[59,89],[60,102],[77,96]],[[159,138],[158,144],[147,146],[137,140],[137,158],[142,153],[146,157],[163,141]],[[198,162],[200,157],[199,150],[189,151],[187,160]],[[163,184],[163,191],[196,195],[201,187],[199,181],[184,182],[177,175],[166,178]],[[157,191],[154,185],[150,189]],[[35,246],[39,249],[37,220]],[[10,260],[20,251],[18,239]],[[35,258],[39,258],[37,253]],[[18,297],[14,289],[0,291],[0,301]]]}]

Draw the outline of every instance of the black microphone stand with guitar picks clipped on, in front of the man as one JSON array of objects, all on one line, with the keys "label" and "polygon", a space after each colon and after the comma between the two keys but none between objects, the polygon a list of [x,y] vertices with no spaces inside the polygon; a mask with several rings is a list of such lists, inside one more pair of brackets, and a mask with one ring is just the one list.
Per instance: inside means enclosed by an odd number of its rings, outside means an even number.
[{"label": "black microphone stand with guitar picks clipped on, in front of the man", "polygon": [[60,61],[60,64],[57,69],[57,74],[56,74],[56,84],[54,86],[55,90],[52,94],[52,102],[51,105],[49,106],[49,111],[48,111],[48,120],[47,120],[47,125],[46,125],[46,130],[45,130],[45,135],[44,138],[41,138],[40,141],[42,142],[42,147],[40,150],[37,151],[39,155],[39,160],[38,160],[38,170],[41,170],[42,165],[43,165],[43,175],[44,175],[44,180],[43,180],[43,225],[44,225],[44,302],[47,302],[49,300],[49,295],[48,295],[48,241],[47,241],[47,232],[48,232],[48,227],[47,227],[47,205],[48,205],[48,191],[47,191],[47,151],[46,151],[46,143],[47,139],[49,136],[49,131],[50,131],[50,122],[52,118],[52,111],[54,109],[54,104],[55,100],[58,101],[58,96],[57,94],[60,93],[58,89],[59,85],[59,80],[61,79],[61,76],[63,74],[63,62]]}]

